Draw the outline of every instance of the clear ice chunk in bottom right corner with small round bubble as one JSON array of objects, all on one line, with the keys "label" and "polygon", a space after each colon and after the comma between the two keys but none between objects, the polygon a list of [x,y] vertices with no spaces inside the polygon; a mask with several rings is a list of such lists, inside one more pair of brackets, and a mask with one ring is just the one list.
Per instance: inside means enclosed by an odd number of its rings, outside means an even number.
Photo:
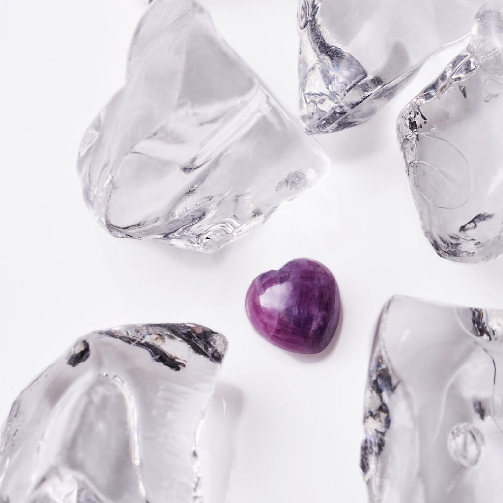
[{"label": "clear ice chunk in bottom right corner with small round bubble", "polygon": [[371,503],[498,503],[503,311],[393,297],[374,339],[361,469]]}]

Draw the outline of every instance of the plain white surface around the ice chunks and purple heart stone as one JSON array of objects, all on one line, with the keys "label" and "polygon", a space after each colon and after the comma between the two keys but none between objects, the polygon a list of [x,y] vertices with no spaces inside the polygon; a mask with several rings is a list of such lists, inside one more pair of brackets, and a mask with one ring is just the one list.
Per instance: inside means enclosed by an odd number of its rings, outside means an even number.
[{"label": "plain white surface around the ice chunks and purple heart stone", "polygon": [[[202,4],[296,114],[294,0]],[[229,402],[239,418],[232,503],[363,503],[362,402],[385,300],[401,293],[503,307],[503,260],[473,266],[435,255],[395,137],[399,110],[449,56],[437,58],[419,75],[422,84],[416,79],[370,122],[320,137],[332,161],[329,176],[262,228],[204,256],[113,238],[81,201],[78,144],[122,85],[144,9],[138,0],[0,4],[0,416],[39,371],[93,329],[193,321],[230,342],[219,382],[241,397]],[[256,275],[299,257],[330,268],[342,293],[340,342],[321,356],[271,346],[243,309]]]}]

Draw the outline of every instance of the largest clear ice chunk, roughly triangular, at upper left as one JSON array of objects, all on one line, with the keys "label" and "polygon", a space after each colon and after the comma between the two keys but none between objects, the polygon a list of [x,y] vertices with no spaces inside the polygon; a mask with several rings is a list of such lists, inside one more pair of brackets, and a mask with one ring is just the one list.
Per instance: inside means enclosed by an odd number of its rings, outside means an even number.
[{"label": "largest clear ice chunk, roughly triangular, at upper left", "polygon": [[316,183],[328,159],[192,0],[155,0],[127,81],[78,156],[113,235],[213,253]]}]

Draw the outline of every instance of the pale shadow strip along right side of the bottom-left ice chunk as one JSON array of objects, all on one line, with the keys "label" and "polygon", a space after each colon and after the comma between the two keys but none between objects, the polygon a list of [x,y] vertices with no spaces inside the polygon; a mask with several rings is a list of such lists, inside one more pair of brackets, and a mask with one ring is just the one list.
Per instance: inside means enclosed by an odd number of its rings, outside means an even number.
[{"label": "pale shadow strip along right side of the bottom-left ice chunk", "polygon": [[240,389],[217,383],[197,446],[205,503],[228,501],[242,407]]}]

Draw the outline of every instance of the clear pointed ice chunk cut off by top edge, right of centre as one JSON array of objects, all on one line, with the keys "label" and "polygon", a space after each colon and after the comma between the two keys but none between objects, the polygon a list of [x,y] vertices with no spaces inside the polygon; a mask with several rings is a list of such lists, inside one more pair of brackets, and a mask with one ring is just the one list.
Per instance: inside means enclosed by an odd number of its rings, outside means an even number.
[{"label": "clear pointed ice chunk cut off by top edge, right of centre", "polygon": [[441,46],[468,34],[481,0],[300,0],[300,116],[308,134],[372,117]]}]

